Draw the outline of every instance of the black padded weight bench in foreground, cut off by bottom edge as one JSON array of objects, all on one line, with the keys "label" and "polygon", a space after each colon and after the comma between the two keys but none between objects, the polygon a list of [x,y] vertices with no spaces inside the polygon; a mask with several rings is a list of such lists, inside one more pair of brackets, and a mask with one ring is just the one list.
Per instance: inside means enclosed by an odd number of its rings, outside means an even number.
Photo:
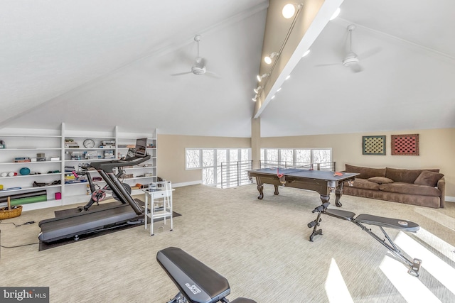
[{"label": "black padded weight bench in foreground, cut off by bottom edge", "polygon": [[179,290],[168,303],[256,303],[245,298],[229,301],[228,280],[180,248],[159,250],[156,260]]}]

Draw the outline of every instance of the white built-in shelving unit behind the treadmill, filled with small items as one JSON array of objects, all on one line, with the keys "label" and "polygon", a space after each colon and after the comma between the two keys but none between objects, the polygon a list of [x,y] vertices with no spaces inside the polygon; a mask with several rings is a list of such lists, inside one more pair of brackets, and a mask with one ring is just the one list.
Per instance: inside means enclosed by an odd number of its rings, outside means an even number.
[{"label": "white built-in shelving unit behind the treadmill, filled with small items", "polygon": [[[68,167],[74,167],[77,173],[83,163],[122,158],[127,155],[129,146],[135,145],[137,138],[147,138],[147,153],[151,155],[150,160],[134,167],[123,167],[127,175],[120,178],[122,182],[133,188],[132,194],[139,194],[141,190],[134,189],[137,184],[148,185],[157,180],[156,137],[156,130],[152,130],[150,133],[129,133],[119,131],[117,126],[112,131],[107,132],[66,129],[65,123],[62,123],[59,130],[4,128],[0,131],[0,140],[5,143],[5,148],[0,148],[0,174],[2,172],[7,174],[16,172],[16,175],[0,177],[0,184],[4,187],[0,191],[0,197],[46,190],[47,201],[23,204],[24,210],[88,202],[90,199],[87,194],[88,182],[65,183],[65,167],[67,170]],[[72,148],[65,145],[65,141],[68,139],[72,139],[79,147]],[[95,141],[95,146],[85,148],[83,143],[86,139]],[[103,141],[110,141],[114,144],[100,148]],[[79,153],[90,152],[100,156],[97,159],[73,160],[72,153],[75,151]],[[105,151],[112,152],[114,158],[105,159]],[[45,161],[14,162],[16,158],[34,160],[38,158],[38,153],[45,154]],[[50,158],[53,160],[51,161]],[[19,171],[22,167],[27,167],[32,174],[36,173],[36,175],[21,175]],[[90,170],[90,175],[91,177],[100,177],[96,170]],[[60,184],[52,184],[58,181]],[[33,187],[33,182],[49,185]],[[95,184],[104,187],[106,183],[102,180],[96,181]],[[61,199],[55,199],[56,193],[60,193]],[[3,204],[0,202],[0,207],[4,206]]]}]

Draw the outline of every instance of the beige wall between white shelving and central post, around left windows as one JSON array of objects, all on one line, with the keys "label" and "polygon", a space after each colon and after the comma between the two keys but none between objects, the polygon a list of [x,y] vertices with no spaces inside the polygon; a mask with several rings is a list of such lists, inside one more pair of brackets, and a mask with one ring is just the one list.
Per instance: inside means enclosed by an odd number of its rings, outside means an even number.
[{"label": "beige wall between white shelving and central post, around left windows", "polygon": [[201,170],[185,170],[185,148],[250,148],[251,138],[158,134],[158,176],[175,183],[202,180]]}]

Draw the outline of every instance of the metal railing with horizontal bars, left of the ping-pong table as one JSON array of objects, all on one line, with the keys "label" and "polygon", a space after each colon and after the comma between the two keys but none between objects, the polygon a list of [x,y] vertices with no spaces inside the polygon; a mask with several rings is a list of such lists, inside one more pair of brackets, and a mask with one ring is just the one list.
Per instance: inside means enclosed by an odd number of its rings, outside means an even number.
[{"label": "metal railing with horizontal bars, left of the ping-pong table", "polygon": [[252,180],[250,180],[250,177],[248,177],[248,170],[252,170],[252,163],[252,160],[222,162],[220,173],[221,188],[252,184]]}]

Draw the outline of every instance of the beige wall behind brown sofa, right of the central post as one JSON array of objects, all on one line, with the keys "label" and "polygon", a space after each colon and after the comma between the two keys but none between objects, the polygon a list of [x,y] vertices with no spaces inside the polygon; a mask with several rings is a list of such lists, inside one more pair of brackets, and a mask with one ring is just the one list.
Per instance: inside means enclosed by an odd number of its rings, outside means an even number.
[{"label": "beige wall behind brown sofa, right of the central post", "polygon": [[[390,155],[390,135],[412,133],[419,134],[419,155]],[[386,136],[386,155],[362,155],[362,136]],[[346,163],[368,167],[439,168],[446,178],[446,196],[455,197],[455,128],[261,138],[261,147],[332,148],[336,170],[344,170]]]}]

